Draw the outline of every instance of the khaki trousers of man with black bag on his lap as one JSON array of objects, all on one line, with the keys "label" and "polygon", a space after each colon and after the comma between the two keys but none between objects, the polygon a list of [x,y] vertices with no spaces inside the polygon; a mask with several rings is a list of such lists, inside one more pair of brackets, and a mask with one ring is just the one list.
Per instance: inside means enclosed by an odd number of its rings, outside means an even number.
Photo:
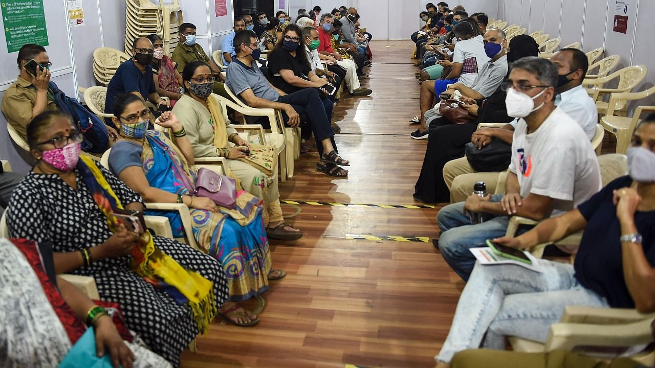
[{"label": "khaki trousers of man with black bag on his lap", "polygon": [[[462,202],[473,193],[476,181],[484,181],[487,193],[494,194],[500,182],[500,172],[476,172],[466,157],[446,162],[443,166],[443,181],[451,192],[451,203]],[[504,188],[500,188],[503,189]]]}]

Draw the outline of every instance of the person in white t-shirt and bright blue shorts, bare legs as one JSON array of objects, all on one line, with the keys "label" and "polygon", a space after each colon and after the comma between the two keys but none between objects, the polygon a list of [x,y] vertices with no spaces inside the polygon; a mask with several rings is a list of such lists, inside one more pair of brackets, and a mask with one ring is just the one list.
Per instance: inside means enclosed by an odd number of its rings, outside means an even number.
[{"label": "person in white t-shirt and bright blue shorts, bare legs", "polygon": [[414,139],[428,138],[428,128],[423,119],[425,112],[434,106],[434,100],[446,90],[448,84],[462,83],[470,87],[476,81],[477,74],[482,67],[489,62],[489,56],[485,52],[484,39],[482,35],[476,36],[476,31],[469,22],[462,22],[455,26],[455,37],[459,40],[453,51],[453,62],[440,60],[444,66],[452,65],[451,72],[444,78],[436,81],[424,81],[421,84],[421,126],[410,134]]}]

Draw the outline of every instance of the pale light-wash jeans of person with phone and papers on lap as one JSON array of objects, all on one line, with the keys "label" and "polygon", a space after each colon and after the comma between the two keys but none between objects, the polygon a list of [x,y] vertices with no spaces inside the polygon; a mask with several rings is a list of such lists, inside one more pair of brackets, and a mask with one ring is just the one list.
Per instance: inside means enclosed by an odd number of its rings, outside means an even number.
[{"label": "pale light-wash jeans of person with phone and papers on lap", "polygon": [[538,262],[542,273],[517,265],[476,264],[434,359],[449,363],[455,353],[481,343],[483,348],[504,350],[505,336],[546,342],[550,325],[559,322],[565,306],[609,306],[605,298],[578,284],[572,265]]}]

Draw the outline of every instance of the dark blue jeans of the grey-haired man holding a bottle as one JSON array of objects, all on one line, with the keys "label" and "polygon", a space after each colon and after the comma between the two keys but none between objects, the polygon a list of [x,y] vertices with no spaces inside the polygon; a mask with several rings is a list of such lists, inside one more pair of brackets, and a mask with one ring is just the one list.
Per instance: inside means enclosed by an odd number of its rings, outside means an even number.
[{"label": "dark blue jeans of the grey-haired man holding a bottle", "polygon": [[[491,196],[491,202],[500,202],[503,194]],[[471,225],[468,214],[462,213],[464,202],[449,204],[437,213],[437,224],[443,233],[439,236],[441,257],[464,279],[468,280],[476,264],[476,257],[469,248],[486,246],[487,239],[500,238],[505,235],[508,216],[496,216],[485,213],[485,222]]]}]

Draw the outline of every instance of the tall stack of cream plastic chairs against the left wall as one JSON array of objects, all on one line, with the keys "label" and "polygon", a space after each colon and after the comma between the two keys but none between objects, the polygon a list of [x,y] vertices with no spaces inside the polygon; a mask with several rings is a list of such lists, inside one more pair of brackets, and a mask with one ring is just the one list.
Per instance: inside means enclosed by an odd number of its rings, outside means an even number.
[{"label": "tall stack of cream plastic chairs against the left wall", "polygon": [[138,37],[157,33],[164,39],[164,51],[172,56],[178,46],[179,25],[182,23],[178,0],[169,5],[162,0],[159,0],[159,5],[150,0],[125,0],[125,3],[125,51],[132,50],[132,43]]}]

